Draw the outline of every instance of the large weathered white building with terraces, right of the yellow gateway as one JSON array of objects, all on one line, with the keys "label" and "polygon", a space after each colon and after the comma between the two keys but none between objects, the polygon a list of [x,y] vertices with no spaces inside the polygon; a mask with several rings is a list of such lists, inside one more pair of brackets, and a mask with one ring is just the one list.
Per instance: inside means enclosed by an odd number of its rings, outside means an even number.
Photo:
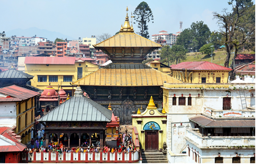
[{"label": "large weathered white building with terraces, right of the yellow gateway", "polygon": [[162,88],[169,163],[255,160],[255,83]]}]

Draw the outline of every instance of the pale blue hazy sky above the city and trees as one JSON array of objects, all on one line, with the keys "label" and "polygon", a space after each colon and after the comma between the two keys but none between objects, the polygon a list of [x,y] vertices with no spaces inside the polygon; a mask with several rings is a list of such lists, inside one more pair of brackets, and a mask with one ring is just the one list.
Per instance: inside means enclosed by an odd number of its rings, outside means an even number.
[{"label": "pale blue hazy sky above the city and trees", "polygon": [[[165,30],[176,33],[183,22],[183,29],[191,23],[203,21],[211,31],[218,30],[212,12],[222,13],[231,6],[229,0],[146,0],[154,15],[148,23],[150,35]],[[0,0],[0,31],[37,27],[56,31],[78,39],[109,33],[114,35],[124,24],[126,7],[131,12],[141,0]],[[134,21],[133,21],[134,22]],[[138,28],[133,24],[135,32]],[[5,32],[6,33],[6,32]],[[44,36],[40,36],[44,37]]]}]

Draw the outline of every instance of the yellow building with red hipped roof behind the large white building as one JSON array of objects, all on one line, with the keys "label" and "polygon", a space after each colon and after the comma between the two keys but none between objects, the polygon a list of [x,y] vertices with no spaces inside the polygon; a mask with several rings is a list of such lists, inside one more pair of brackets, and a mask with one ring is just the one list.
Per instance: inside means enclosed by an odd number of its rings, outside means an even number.
[{"label": "yellow building with red hipped roof behind the large white building", "polygon": [[211,62],[182,62],[171,65],[172,77],[184,83],[227,83],[232,69]]}]

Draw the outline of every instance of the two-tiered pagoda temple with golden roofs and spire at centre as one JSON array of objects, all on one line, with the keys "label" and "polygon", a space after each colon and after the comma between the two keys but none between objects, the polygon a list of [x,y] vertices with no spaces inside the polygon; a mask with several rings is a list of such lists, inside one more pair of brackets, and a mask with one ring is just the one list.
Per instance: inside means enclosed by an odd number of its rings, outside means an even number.
[{"label": "two-tiered pagoda temple with golden roofs and spire at centre", "polygon": [[106,108],[111,103],[114,116],[120,118],[120,124],[131,125],[131,115],[141,106],[142,110],[146,109],[150,95],[155,99],[156,106],[162,108],[163,83],[182,83],[142,64],[147,54],[162,45],[135,34],[128,13],[117,35],[93,46],[107,54],[112,63],[72,85],[80,84],[91,99]]}]

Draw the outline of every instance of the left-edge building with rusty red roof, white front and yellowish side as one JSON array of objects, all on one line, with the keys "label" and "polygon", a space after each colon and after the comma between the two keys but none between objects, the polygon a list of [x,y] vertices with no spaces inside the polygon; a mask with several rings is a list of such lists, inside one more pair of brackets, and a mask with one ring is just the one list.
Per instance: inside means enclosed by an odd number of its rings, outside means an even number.
[{"label": "left-edge building with rusty red roof, white front and yellowish side", "polygon": [[11,85],[0,88],[0,126],[15,127],[14,132],[21,136],[21,143],[31,139],[34,126],[35,98],[40,93]]}]

